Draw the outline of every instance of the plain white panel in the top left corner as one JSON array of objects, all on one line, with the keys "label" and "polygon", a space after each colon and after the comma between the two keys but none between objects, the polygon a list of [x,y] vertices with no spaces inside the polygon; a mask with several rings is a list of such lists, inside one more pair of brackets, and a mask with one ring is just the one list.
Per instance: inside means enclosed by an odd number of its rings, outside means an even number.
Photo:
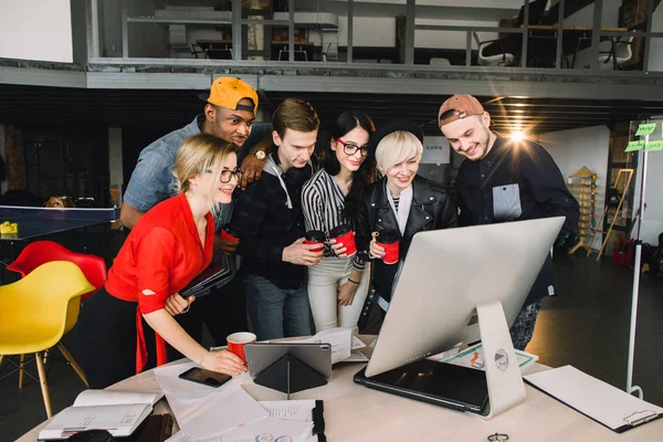
[{"label": "plain white panel in the top left corner", "polygon": [[0,57],[73,62],[70,0],[0,0]]}]

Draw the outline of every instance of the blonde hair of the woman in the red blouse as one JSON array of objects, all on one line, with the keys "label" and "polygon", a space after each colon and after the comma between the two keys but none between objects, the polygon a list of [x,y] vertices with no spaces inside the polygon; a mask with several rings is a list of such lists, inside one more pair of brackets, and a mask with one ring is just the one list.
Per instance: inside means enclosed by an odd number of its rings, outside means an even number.
[{"label": "blonde hair of the woman in the red blouse", "polygon": [[[225,158],[234,152],[234,145],[208,134],[197,134],[187,139],[177,151],[172,175],[176,178],[175,193],[189,190],[189,180],[211,170],[214,179],[211,187],[219,185],[221,168]],[[211,190],[211,189],[210,189]]]}]

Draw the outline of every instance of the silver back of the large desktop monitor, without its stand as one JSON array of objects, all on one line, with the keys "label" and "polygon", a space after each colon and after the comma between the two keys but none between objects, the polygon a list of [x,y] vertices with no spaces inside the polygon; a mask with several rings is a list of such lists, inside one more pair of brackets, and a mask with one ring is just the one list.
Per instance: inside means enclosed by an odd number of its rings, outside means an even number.
[{"label": "silver back of the large desktop monitor, without its stand", "polygon": [[480,305],[501,303],[511,327],[562,223],[556,217],[417,233],[366,376],[480,340]]}]

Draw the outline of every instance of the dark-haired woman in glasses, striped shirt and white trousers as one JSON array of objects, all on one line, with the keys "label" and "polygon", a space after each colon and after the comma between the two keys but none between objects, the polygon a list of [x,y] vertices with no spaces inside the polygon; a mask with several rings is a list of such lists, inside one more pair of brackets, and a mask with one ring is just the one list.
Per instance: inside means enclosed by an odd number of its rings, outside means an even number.
[{"label": "dark-haired woman in glasses, striped shirt and white trousers", "polygon": [[348,256],[350,244],[333,236],[334,229],[344,224],[355,230],[359,194],[375,180],[373,162],[366,160],[373,130],[368,115],[341,114],[320,154],[320,170],[302,190],[306,231],[322,231],[329,239],[324,257],[308,267],[308,301],[317,332],[337,326],[357,332],[369,272],[358,254]]}]

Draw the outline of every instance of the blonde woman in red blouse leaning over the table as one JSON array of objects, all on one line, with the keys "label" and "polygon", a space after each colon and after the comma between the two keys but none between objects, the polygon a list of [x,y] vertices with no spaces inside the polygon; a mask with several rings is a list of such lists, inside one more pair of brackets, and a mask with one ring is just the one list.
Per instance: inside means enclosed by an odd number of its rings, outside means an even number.
[{"label": "blonde woman in red blouse leaning over the table", "polygon": [[166,343],[209,370],[245,371],[238,356],[208,351],[172,317],[181,312],[179,304],[193,302],[178,292],[212,260],[212,211],[231,201],[240,180],[233,150],[232,144],[207,134],[185,140],[173,169],[177,196],[140,218],[105,286],[83,305],[78,334],[91,388],[105,388],[165,364]]}]

